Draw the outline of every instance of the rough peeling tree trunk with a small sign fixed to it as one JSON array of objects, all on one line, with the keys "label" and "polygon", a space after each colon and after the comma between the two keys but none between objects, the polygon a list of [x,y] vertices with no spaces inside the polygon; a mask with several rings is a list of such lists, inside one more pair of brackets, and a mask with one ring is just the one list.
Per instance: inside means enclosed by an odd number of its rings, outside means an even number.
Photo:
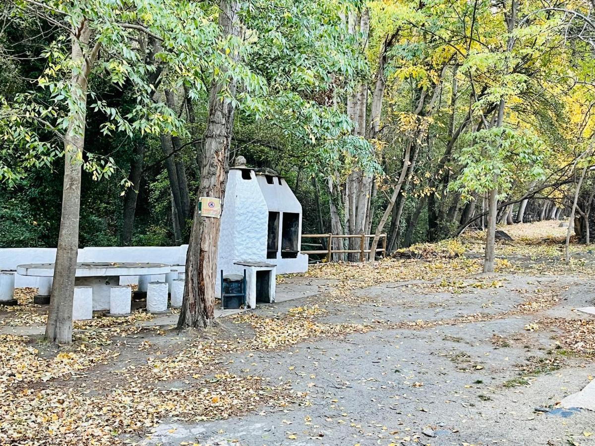
[{"label": "rough peeling tree trunk with a small sign fixed to it", "polygon": [[[239,26],[236,0],[221,0],[219,26],[223,36],[237,36]],[[233,61],[239,57],[232,49]],[[223,77],[221,77],[223,78]],[[227,90],[221,100],[221,93]],[[201,162],[199,196],[221,199],[227,184],[227,152],[231,145],[234,106],[230,96],[236,93],[236,82],[227,86],[215,78],[209,98],[209,117],[206,125],[205,152]],[[198,215],[194,211],[190,244],[186,259],[186,285],[178,320],[178,328],[207,327],[215,322],[215,282],[217,281],[217,252],[221,219]]]}]

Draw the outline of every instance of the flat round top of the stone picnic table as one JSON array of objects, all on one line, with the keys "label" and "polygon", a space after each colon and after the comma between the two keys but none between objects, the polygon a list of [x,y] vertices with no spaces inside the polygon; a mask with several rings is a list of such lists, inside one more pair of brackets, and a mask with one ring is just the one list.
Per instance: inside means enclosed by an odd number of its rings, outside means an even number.
[{"label": "flat round top of the stone picnic table", "polygon": [[[167,274],[171,266],[165,263],[82,262],[76,265],[76,277],[136,276]],[[17,266],[17,274],[47,277],[54,275],[54,263],[29,263]]]}]

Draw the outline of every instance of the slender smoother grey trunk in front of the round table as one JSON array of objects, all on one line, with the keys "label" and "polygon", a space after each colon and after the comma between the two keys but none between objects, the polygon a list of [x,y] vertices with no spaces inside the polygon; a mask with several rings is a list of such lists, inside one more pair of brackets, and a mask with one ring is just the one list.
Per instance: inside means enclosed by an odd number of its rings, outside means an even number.
[{"label": "slender smoother grey trunk in front of the round table", "polygon": [[49,304],[45,338],[51,343],[72,342],[73,294],[79,248],[80,181],[82,175],[84,127],[87,115],[87,77],[99,51],[99,45],[85,55],[91,31],[83,18],[71,37],[73,74],[70,81],[72,101],[70,121],[64,136],[64,189],[60,234],[54,266],[54,284]]}]

